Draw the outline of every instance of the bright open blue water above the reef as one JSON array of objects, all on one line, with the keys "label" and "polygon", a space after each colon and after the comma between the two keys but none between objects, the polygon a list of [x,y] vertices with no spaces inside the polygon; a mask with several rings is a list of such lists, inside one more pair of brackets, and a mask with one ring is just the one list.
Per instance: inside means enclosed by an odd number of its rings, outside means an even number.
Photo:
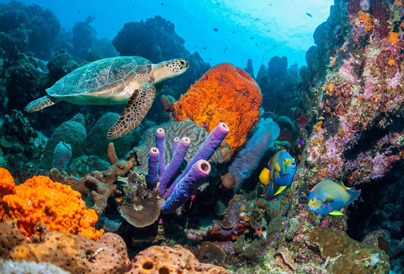
[{"label": "bright open blue water above the reef", "polygon": [[211,65],[230,62],[244,67],[251,58],[258,72],[262,56],[274,45],[265,55],[264,64],[273,56],[287,56],[289,65],[306,64],[306,51],[314,45],[314,30],[327,20],[333,1],[28,0],[23,3],[51,9],[66,28],[93,16],[91,26],[97,36],[109,39],[126,22],[160,15],[174,23],[175,31],[190,52],[197,51]]}]

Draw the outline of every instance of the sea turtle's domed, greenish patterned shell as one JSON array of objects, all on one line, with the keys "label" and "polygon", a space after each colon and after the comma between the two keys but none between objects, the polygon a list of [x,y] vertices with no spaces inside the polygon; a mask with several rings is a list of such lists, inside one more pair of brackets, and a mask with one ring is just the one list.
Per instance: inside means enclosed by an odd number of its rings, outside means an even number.
[{"label": "sea turtle's domed, greenish patterned shell", "polygon": [[48,95],[80,96],[97,92],[118,93],[139,75],[151,72],[151,62],[139,56],[119,56],[83,65],[61,78]]}]

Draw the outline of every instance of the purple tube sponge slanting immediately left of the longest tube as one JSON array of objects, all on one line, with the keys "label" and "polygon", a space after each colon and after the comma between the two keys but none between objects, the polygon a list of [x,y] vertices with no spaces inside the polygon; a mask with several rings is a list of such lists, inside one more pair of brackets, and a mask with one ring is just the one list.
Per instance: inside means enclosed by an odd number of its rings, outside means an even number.
[{"label": "purple tube sponge slanting immediately left of the longest tube", "polygon": [[180,169],[181,163],[184,160],[185,154],[188,151],[190,144],[191,141],[189,140],[189,138],[186,137],[182,138],[181,142],[177,144],[177,149],[172,155],[170,163],[164,169],[163,175],[160,177],[160,185],[159,185],[160,193],[164,194],[164,192],[166,192],[166,187],[173,179],[177,171]]}]

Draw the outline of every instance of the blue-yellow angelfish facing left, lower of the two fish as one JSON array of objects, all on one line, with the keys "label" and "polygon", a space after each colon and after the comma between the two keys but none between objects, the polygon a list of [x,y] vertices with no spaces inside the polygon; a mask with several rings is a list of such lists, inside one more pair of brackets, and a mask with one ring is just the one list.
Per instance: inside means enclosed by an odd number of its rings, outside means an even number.
[{"label": "blue-yellow angelfish facing left, lower of the two fish", "polygon": [[336,183],[331,178],[317,183],[309,193],[309,211],[336,217],[342,215],[340,210],[358,198],[361,190],[346,187],[342,182]]}]

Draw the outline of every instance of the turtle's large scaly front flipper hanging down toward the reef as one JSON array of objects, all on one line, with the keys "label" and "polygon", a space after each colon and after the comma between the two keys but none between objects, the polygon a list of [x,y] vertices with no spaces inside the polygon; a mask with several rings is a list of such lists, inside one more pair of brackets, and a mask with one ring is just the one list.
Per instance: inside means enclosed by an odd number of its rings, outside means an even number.
[{"label": "turtle's large scaly front flipper hanging down toward the reef", "polygon": [[146,116],[153,100],[155,99],[156,88],[146,83],[140,89],[135,90],[125,105],[124,110],[115,124],[108,132],[108,139],[122,137],[132,129],[136,128]]}]

